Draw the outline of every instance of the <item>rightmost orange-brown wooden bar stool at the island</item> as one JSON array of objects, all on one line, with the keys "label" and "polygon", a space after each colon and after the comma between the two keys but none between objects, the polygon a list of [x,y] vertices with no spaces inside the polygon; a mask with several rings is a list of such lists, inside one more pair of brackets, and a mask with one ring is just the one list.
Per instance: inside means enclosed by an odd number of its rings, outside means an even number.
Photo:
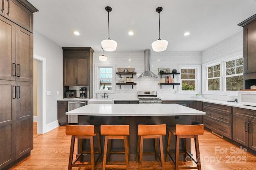
[{"label": "rightmost orange-brown wooden bar stool at the island", "polygon": [[[168,156],[172,159],[175,164],[175,170],[178,169],[198,169],[201,170],[201,162],[200,162],[200,152],[199,152],[199,143],[198,143],[198,135],[204,134],[204,125],[176,125],[176,127],[168,127],[168,144],[167,144],[167,152],[166,152],[166,162],[168,161]],[[171,135],[174,134],[176,136],[176,144],[175,144],[175,153],[170,152],[170,143],[171,143]],[[185,152],[179,152],[180,148],[180,138],[185,138]],[[188,152],[188,138],[194,138],[195,148],[196,148],[196,160],[192,157],[192,155]],[[172,157],[172,154],[175,154],[175,158]],[[179,166],[179,155],[186,154],[192,159],[197,166]],[[186,157],[187,160],[187,157]]]}]

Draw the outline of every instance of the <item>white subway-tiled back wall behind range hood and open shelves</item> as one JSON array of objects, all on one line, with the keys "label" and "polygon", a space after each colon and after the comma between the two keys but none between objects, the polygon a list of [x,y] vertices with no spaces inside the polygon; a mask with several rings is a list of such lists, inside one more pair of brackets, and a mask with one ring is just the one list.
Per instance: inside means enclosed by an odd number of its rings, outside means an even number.
[{"label": "white subway-tiled back wall behind range hood and open shelves", "polygon": [[[98,56],[102,55],[102,51],[95,51],[93,53],[93,63],[94,64],[116,64],[118,67],[134,67],[135,72],[137,73],[134,76],[134,88],[132,89],[131,85],[116,85],[116,93],[108,94],[111,98],[122,98],[122,97],[137,97],[137,91],[141,90],[156,90],[158,97],[190,97],[191,95],[178,95],[178,85],[172,88],[172,85],[163,85],[160,89],[158,85],[160,78],[156,79],[141,79],[137,78],[144,71],[144,50],[142,51],[114,51],[106,52],[104,55],[108,57],[106,62],[99,61]],[[130,61],[129,61],[130,59]],[[167,67],[178,70],[179,64],[201,64],[201,52],[172,52],[172,51],[163,51],[163,52],[154,52],[151,50],[151,59],[150,59],[150,71],[153,71],[155,74],[158,74],[158,67]],[[93,75],[94,75],[93,69]],[[95,77],[95,75],[94,75]],[[119,75],[116,75],[116,82],[118,82]],[[178,75],[176,77],[178,79]],[[94,83],[94,82],[93,82]],[[96,94],[94,93],[94,98]]]}]

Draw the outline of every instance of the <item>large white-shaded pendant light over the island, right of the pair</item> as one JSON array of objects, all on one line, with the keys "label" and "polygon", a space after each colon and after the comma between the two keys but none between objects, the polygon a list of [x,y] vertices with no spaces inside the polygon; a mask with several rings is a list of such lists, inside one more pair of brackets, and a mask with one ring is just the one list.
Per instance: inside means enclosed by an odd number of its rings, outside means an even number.
[{"label": "large white-shaded pendant light over the island, right of the pair", "polygon": [[163,10],[162,7],[156,8],[156,12],[158,12],[158,18],[159,18],[159,39],[154,41],[154,42],[152,42],[152,44],[151,44],[153,50],[156,51],[156,52],[160,52],[160,51],[166,50],[167,45],[168,45],[168,41],[161,40],[161,38],[160,38],[160,12],[162,10]]}]

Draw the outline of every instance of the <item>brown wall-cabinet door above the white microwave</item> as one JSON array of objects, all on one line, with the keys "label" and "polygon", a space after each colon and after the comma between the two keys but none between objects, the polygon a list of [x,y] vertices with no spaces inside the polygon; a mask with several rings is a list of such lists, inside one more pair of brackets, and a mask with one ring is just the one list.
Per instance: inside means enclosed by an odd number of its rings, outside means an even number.
[{"label": "brown wall-cabinet door above the white microwave", "polygon": [[244,26],[244,73],[256,72],[256,21]]}]

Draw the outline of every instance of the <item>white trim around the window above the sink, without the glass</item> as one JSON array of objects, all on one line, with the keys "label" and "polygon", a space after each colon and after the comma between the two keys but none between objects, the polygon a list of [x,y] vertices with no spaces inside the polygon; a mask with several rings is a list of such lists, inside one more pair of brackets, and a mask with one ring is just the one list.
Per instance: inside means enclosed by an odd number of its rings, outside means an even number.
[{"label": "white trim around the window above the sink, without the glass", "polygon": [[[94,91],[95,93],[116,93],[116,65],[115,64],[95,64],[95,85]],[[112,68],[112,90],[99,90],[99,70],[100,68]]]}]

